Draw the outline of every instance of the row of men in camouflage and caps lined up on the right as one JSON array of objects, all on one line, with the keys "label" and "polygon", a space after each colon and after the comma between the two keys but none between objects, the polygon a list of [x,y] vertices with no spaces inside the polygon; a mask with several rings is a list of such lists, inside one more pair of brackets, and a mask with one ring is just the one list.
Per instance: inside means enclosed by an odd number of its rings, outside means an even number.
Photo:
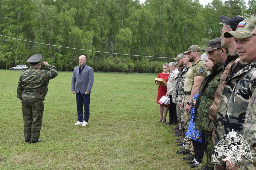
[{"label": "row of men in camouflage and caps lined up on the right", "polygon": [[[256,18],[221,16],[220,20],[224,23],[221,38],[211,40],[203,50],[208,52],[208,59],[214,64],[208,77],[204,74],[205,68],[201,65],[196,67],[200,61],[197,57],[200,56],[200,47],[193,45],[183,52],[188,54],[193,64],[188,66],[186,73],[183,67],[181,70],[184,71],[180,71],[174,83],[177,89],[173,91],[176,95],[172,97],[177,104],[179,129],[185,127],[187,130],[192,97],[200,92],[195,105],[194,122],[195,130],[202,132],[202,146],[207,155],[207,166],[202,169],[256,169]],[[181,61],[179,56],[175,58],[178,65]],[[184,56],[183,61],[186,58]],[[180,96],[183,96],[182,101]],[[181,115],[184,115],[184,119]],[[218,141],[232,130],[248,142],[253,162],[245,156],[241,156],[234,167],[224,159],[213,162],[212,154],[218,149]],[[193,160],[195,153],[191,139],[185,137],[185,140],[185,148],[176,153],[189,154],[185,160]]]}]

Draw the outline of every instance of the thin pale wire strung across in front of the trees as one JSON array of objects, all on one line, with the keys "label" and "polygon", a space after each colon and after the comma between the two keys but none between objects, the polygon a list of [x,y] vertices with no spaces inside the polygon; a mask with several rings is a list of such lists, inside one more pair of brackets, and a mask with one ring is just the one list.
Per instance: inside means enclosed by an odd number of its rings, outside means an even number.
[{"label": "thin pale wire strung across in front of the trees", "polygon": [[54,47],[70,48],[70,49],[75,49],[75,50],[84,50],[84,51],[99,52],[99,53],[108,53],[108,54],[118,54],[118,55],[130,55],[130,56],[138,56],[138,57],[168,58],[168,57],[155,57],[155,56],[120,54],[120,53],[111,53],[111,52],[103,52],[103,51],[85,50],[85,49],[79,49],[79,48],[63,47],[63,46],[57,46],[57,45],[51,45],[51,44],[45,44],[45,43],[38,43],[38,42],[34,42],[34,41],[29,41],[29,40],[24,40],[24,39],[18,39],[18,38],[8,37],[8,36],[4,36],[4,35],[0,35],[0,36],[6,37],[6,38],[11,38],[11,39],[16,39],[16,40],[21,40],[21,41],[27,41],[27,42],[30,42],[30,43],[37,43],[37,44],[43,44],[43,45],[47,45],[47,46],[54,46]]}]

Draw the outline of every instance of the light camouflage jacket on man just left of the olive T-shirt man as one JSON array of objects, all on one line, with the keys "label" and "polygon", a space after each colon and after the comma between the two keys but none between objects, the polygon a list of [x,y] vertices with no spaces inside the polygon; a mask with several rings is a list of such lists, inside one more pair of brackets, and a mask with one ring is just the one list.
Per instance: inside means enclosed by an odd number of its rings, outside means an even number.
[{"label": "light camouflage jacket on man just left of the olive T-shirt man", "polygon": [[175,101],[175,103],[181,102],[184,96],[184,81],[189,67],[184,66],[182,71],[179,72],[178,77],[176,78],[177,80],[175,79],[176,84],[174,84],[174,87],[176,88],[176,95],[172,94],[172,101]]}]

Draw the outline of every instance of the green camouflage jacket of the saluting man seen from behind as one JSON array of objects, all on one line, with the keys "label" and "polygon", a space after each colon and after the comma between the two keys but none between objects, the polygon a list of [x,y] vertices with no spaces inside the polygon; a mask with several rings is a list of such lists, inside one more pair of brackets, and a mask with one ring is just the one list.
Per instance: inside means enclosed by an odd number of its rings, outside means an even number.
[{"label": "green camouflage jacket of the saluting man seen from behind", "polygon": [[30,67],[23,71],[19,77],[17,88],[17,98],[22,100],[23,97],[44,98],[48,91],[50,79],[55,78],[58,72],[54,66],[46,66],[49,71],[39,70],[36,67]]}]

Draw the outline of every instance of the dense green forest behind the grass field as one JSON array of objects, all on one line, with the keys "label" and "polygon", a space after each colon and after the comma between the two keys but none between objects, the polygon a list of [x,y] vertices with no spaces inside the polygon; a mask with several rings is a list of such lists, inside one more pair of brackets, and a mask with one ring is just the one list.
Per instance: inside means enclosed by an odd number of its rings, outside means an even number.
[{"label": "dense green forest behind the grass field", "polygon": [[158,73],[190,45],[220,37],[221,15],[248,18],[255,7],[256,0],[1,0],[0,35],[28,41],[0,36],[0,69],[6,58],[9,69],[41,53],[71,71],[85,54],[94,71]]}]

